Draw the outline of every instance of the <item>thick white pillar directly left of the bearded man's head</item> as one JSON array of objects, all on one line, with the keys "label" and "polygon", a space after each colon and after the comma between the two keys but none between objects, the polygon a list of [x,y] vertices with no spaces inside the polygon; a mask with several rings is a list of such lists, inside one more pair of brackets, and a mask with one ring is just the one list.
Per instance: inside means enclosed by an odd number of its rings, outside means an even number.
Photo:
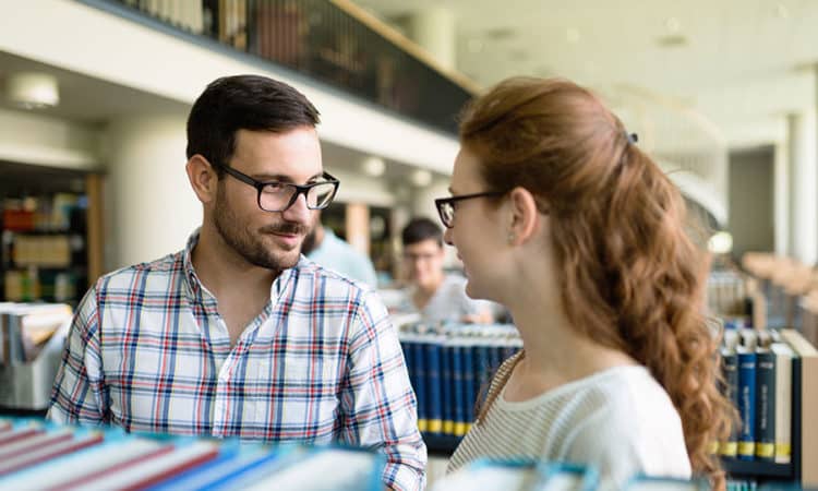
[{"label": "thick white pillar directly left of the bearded man's head", "polygon": [[184,171],[187,115],[111,121],[106,189],[106,267],[153,261],[184,248],[202,206]]}]

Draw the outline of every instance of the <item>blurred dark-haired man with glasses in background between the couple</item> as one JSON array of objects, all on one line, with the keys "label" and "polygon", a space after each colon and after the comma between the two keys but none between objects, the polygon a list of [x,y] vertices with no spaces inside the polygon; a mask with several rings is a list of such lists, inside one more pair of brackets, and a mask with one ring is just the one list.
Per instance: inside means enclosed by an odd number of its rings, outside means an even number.
[{"label": "blurred dark-haired man with glasses in background between the couple", "polygon": [[413,218],[401,232],[404,266],[411,287],[402,310],[431,323],[493,321],[491,303],[466,295],[466,278],[443,271],[443,231],[429,218]]}]

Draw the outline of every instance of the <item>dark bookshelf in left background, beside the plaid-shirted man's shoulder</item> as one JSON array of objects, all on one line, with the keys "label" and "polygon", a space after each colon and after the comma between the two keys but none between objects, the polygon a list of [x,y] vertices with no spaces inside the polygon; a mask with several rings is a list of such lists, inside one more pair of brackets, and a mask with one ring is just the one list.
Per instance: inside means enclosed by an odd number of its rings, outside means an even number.
[{"label": "dark bookshelf in left background, beside the plaid-shirted man's shoulder", "polygon": [[75,304],[103,274],[99,175],[0,163],[0,301]]}]

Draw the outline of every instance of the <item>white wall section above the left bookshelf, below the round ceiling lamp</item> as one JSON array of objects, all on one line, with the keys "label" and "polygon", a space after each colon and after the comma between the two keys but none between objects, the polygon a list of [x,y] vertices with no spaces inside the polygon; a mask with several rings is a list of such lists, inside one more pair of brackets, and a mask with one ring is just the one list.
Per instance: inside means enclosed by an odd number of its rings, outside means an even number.
[{"label": "white wall section above the left bookshelf, below the round ceiling lamp", "polygon": [[0,160],[99,170],[99,130],[60,118],[0,109]]}]

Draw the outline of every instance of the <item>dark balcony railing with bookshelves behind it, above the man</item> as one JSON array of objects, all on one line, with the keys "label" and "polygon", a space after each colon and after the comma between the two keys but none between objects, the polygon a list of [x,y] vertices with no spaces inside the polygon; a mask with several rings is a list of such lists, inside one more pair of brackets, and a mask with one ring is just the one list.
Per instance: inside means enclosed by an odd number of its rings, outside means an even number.
[{"label": "dark balcony railing with bookshelves behind it, above the man", "polygon": [[473,93],[347,0],[82,1],[214,39],[449,133]]}]

